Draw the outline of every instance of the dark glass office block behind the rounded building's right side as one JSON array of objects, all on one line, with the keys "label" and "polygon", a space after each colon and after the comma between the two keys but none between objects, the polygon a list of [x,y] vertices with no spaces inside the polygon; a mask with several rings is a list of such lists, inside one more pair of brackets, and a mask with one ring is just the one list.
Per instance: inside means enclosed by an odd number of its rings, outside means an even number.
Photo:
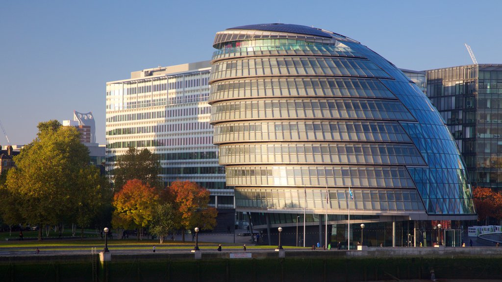
[{"label": "dark glass office block behind the rounded building's right side", "polygon": [[427,96],[455,137],[472,186],[502,189],[502,64],[427,70]]}]

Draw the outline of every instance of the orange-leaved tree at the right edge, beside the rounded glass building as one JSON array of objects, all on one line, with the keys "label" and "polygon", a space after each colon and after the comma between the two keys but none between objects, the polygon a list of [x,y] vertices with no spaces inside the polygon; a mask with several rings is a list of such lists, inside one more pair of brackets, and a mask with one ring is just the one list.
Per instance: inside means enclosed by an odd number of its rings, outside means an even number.
[{"label": "orange-leaved tree at the right edge, beside the rounded glass building", "polygon": [[502,194],[496,193],[490,188],[477,187],[472,190],[474,204],[478,215],[478,220],[485,220],[488,224],[488,218],[497,220],[502,218]]}]

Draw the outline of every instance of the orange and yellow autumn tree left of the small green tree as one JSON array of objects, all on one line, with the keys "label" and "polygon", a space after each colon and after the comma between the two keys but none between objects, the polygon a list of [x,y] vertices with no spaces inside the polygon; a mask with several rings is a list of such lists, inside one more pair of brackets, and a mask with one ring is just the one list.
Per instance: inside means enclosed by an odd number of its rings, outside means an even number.
[{"label": "orange and yellow autumn tree left of the small green tree", "polygon": [[129,180],[113,196],[115,208],[112,225],[124,229],[138,228],[138,240],[143,227],[148,226],[154,215],[154,206],[158,199],[155,188],[138,179]]}]

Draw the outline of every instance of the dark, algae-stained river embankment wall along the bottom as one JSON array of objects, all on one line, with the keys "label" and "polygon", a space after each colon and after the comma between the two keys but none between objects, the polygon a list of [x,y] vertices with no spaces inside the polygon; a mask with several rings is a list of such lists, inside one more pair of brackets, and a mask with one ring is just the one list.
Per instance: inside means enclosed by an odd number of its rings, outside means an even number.
[{"label": "dark, algae-stained river embankment wall along the bottom", "polygon": [[365,250],[190,251],[0,257],[0,281],[366,281],[502,279],[502,248],[367,248]]}]

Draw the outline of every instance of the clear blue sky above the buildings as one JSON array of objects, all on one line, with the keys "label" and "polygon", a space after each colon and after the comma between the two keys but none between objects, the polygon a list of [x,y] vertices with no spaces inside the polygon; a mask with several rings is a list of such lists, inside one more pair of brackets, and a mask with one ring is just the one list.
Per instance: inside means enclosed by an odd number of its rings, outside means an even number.
[{"label": "clear blue sky above the buildings", "polygon": [[38,122],[92,111],[104,144],[106,81],[209,60],[216,32],[249,24],[330,30],[406,69],[469,64],[464,43],[479,63],[502,63],[500,11],[495,0],[4,1],[0,120],[11,143],[24,145]]}]

